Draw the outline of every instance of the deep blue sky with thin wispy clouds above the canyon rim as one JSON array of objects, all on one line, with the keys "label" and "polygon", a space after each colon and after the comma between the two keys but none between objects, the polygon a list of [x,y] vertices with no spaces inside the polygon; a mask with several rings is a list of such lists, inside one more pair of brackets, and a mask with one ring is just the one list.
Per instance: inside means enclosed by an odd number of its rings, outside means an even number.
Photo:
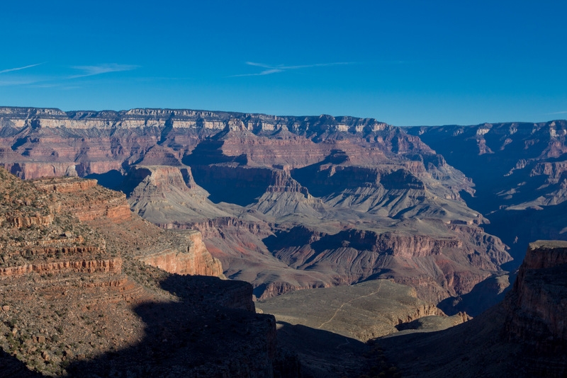
[{"label": "deep blue sky with thin wispy clouds above the canyon rim", "polygon": [[57,1],[0,6],[0,105],[567,118],[567,1]]}]

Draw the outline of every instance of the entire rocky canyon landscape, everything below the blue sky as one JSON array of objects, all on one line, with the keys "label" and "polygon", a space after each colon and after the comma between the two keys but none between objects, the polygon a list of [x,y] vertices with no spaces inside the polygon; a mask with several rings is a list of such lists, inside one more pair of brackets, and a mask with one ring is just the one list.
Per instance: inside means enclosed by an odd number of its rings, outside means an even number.
[{"label": "entire rocky canyon landscape, everything below the blue sky", "polygon": [[566,130],[0,108],[0,376],[561,377]]}]

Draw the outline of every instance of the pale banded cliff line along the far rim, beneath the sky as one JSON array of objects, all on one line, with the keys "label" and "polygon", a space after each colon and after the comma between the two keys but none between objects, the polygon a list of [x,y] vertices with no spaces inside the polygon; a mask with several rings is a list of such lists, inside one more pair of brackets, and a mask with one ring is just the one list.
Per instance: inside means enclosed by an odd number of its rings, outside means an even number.
[{"label": "pale banded cliff line along the far rim, beneath the sky", "polygon": [[330,132],[376,132],[390,125],[374,118],[349,116],[277,116],[189,109],[78,110],[64,112],[55,108],[0,107],[0,127],[66,127],[68,129],[130,129],[172,127],[188,129],[249,130],[252,132],[309,130]]}]

